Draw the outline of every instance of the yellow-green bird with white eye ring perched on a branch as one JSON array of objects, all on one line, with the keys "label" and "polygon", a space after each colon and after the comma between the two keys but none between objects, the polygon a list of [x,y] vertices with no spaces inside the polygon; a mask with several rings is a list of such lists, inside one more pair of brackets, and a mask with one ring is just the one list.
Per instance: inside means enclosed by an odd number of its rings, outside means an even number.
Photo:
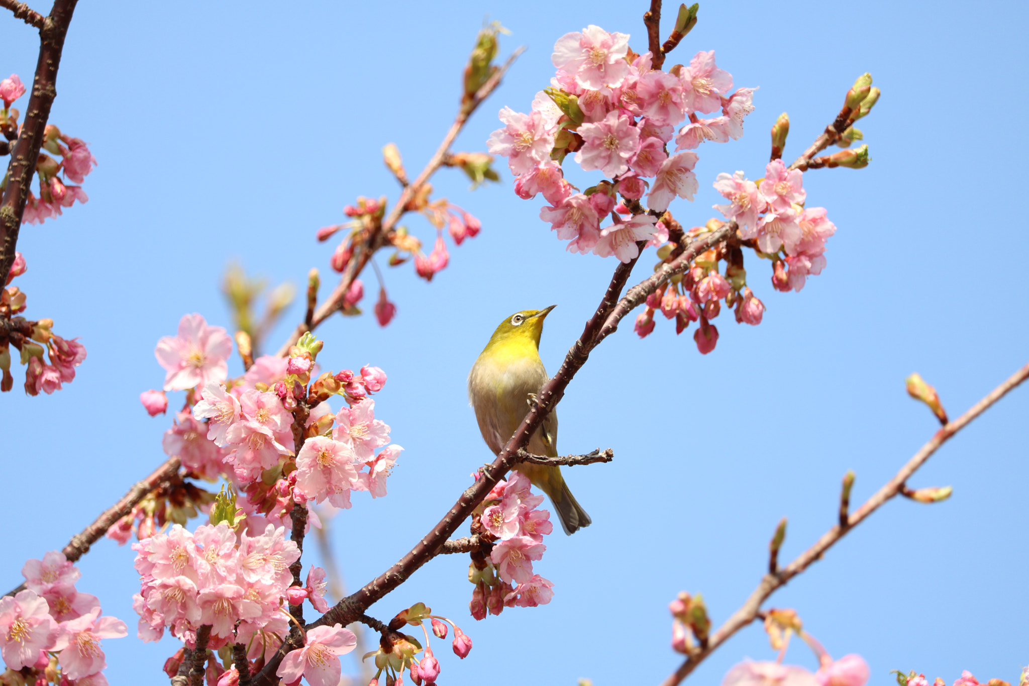
[{"label": "yellow-green bird with white eye ring perched on a branch", "polygon": [[[548,378],[539,359],[539,336],[543,319],[555,306],[525,310],[501,322],[468,374],[468,399],[475,409],[478,430],[494,455],[500,454],[529,412],[530,396],[539,393]],[[543,421],[526,449],[533,455],[558,457],[555,412]],[[590,515],[568,490],[561,467],[520,464],[517,469],[549,496],[566,534],[590,526]]]}]

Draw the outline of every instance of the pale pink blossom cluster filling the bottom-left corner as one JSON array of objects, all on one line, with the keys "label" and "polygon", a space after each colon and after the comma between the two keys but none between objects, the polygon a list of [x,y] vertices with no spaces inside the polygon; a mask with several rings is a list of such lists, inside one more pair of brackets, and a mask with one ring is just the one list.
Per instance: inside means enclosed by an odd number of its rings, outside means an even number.
[{"label": "pale pink blossom cluster filling the bottom-left corner", "polygon": [[126,623],[100,616],[97,597],[75,589],[81,573],[60,551],[30,559],[22,575],[26,589],[0,599],[0,682],[25,683],[17,673],[30,667],[36,686],[107,686],[101,642],[126,636]]}]

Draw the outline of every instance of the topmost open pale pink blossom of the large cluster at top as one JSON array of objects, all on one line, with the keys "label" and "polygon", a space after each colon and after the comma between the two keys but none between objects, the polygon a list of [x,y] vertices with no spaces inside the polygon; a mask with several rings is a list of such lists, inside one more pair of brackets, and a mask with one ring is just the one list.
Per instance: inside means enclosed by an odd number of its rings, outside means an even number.
[{"label": "topmost open pale pink blossom of the large cluster at top", "polygon": [[622,85],[629,74],[628,50],[628,34],[607,33],[591,24],[559,38],[551,60],[560,71],[574,76],[579,86],[597,91]]}]

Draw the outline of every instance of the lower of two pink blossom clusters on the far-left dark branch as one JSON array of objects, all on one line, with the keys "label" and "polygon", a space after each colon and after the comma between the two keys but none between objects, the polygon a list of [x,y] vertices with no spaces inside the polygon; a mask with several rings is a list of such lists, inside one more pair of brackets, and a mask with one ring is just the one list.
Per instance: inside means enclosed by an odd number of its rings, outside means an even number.
[{"label": "lower of two pink blossom clusters on the far-left dark branch", "polygon": [[10,346],[13,346],[21,353],[22,364],[26,365],[25,392],[50,394],[75,378],[75,367],[85,360],[85,346],[77,338],[68,340],[54,333],[52,319],[33,322],[16,316],[25,312],[27,296],[10,282],[25,274],[26,268],[25,257],[15,252],[5,288],[0,291],[0,372],[3,374],[0,391],[14,388],[14,377],[10,373]]}]

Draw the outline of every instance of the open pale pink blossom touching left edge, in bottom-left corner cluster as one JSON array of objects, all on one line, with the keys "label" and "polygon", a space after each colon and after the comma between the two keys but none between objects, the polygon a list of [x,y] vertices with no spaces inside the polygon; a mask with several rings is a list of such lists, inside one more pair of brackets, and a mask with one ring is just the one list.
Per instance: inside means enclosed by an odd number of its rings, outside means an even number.
[{"label": "open pale pink blossom touching left edge, in bottom-left corner cluster", "polygon": [[34,590],[0,599],[0,654],[11,670],[35,664],[40,651],[51,650],[60,636],[46,601]]}]

